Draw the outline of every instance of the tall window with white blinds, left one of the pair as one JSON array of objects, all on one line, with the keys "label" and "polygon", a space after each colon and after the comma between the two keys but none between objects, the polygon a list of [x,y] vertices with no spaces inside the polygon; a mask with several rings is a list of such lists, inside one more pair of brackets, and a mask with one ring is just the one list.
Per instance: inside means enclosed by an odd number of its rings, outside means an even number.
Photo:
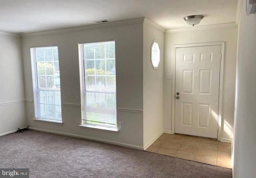
[{"label": "tall window with white blinds, left one of the pair", "polygon": [[30,53],[35,118],[61,122],[58,47],[32,47]]}]

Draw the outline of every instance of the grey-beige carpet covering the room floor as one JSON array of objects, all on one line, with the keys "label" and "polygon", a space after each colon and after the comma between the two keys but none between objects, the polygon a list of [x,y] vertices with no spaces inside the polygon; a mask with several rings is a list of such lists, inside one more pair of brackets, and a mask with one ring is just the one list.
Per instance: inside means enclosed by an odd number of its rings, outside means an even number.
[{"label": "grey-beige carpet covering the room floor", "polygon": [[29,168],[30,178],[232,178],[227,168],[37,131],[0,137],[0,168]]}]

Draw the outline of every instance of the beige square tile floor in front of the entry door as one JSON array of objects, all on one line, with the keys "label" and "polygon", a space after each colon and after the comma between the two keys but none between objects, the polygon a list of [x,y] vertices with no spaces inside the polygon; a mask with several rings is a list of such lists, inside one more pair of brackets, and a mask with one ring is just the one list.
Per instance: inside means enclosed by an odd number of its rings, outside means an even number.
[{"label": "beige square tile floor in front of the entry door", "polygon": [[227,142],[163,133],[146,151],[231,168],[231,144]]}]

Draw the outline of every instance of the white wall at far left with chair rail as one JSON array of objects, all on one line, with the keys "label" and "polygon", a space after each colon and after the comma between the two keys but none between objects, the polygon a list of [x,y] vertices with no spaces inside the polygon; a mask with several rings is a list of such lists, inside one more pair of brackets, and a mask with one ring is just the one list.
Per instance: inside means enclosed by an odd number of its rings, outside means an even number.
[{"label": "white wall at far left with chair rail", "polygon": [[26,126],[21,39],[0,34],[0,135]]}]

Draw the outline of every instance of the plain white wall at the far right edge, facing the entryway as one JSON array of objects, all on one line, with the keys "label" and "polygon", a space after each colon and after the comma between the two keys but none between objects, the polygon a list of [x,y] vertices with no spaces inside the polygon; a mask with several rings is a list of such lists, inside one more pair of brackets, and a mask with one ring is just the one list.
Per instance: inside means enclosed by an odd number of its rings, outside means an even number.
[{"label": "plain white wall at the far right edge, facing the entryway", "polygon": [[246,16],[245,3],[238,31],[234,178],[256,175],[256,14]]}]

